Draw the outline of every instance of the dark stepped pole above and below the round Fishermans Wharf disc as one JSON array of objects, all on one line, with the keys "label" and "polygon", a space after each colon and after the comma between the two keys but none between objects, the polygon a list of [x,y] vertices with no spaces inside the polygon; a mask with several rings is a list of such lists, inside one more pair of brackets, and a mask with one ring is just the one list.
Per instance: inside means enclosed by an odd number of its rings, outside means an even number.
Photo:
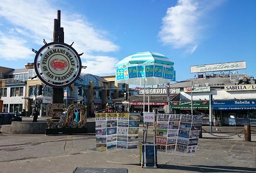
[{"label": "dark stepped pole above and below the round Fishermans Wharf disc", "polygon": [[[60,28],[60,10],[53,24],[53,42],[64,42],[63,28]],[[64,99],[63,88],[52,88],[52,103],[62,104]]]}]

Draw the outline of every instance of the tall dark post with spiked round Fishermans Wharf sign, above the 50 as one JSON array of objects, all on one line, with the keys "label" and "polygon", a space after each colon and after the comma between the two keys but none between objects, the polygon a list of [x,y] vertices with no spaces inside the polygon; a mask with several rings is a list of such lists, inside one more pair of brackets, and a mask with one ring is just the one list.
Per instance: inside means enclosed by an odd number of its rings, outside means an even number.
[{"label": "tall dark post with spiked round Fishermans Wharf sign, above the 50", "polygon": [[41,82],[52,87],[52,103],[63,104],[63,88],[78,79],[82,68],[82,54],[64,43],[60,10],[57,12],[57,19],[54,19],[53,42],[44,43],[39,51],[34,51],[34,69]]}]

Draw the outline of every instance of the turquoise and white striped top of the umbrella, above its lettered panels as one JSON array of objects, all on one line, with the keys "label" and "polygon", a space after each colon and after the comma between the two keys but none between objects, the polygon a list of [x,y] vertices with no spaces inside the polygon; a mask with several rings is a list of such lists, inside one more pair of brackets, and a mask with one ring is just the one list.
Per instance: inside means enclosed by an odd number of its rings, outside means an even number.
[{"label": "turquoise and white striped top of the umbrella, above its lettered panels", "polygon": [[115,66],[117,68],[122,68],[133,64],[162,64],[167,66],[173,66],[174,62],[170,61],[170,59],[159,53],[140,52],[124,58]]}]

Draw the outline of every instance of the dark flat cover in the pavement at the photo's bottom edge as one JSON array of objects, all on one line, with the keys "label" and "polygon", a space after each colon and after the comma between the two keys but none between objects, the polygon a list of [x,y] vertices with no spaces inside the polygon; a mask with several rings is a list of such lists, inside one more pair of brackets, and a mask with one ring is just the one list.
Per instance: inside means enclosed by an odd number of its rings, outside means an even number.
[{"label": "dark flat cover in the pavement at the photo's bottom edge", "polygon": [[104,167],[77,167],[74,170],[74,173],[128,173],[128,170],[125,168],[104,168]]}]

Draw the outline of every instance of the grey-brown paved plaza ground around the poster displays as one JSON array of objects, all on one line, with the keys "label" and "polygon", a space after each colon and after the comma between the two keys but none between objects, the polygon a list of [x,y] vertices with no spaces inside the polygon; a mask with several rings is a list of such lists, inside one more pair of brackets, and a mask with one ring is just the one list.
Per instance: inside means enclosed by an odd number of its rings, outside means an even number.
[{"label": "grey-brown paved plaza ground around the poster displays", "polygon": [[[209,130],[208,126],[203,128]],[[227,136],[239,131],[235,127],[221,128],[218,132],[222,133],[214,134]],[[230,132],[224,132],[224,129]],[[142,141],[141,134],[139,141]],[[218,137],[203,133],[196,153],[158,152],[158,168],[141,168],[139,149],[97,152],[94,135],[1,133],[0,172],[73,172],[76,167],[113,167],[126,168],[129,172],[154,173],[256,172],[256,134],[251,135],[251,142],[243,141],[244,135],[240,135]],[[148,134],[148,141],[152,141],[151,134]],[[75,155],[78,152],[80,154]]]}]

